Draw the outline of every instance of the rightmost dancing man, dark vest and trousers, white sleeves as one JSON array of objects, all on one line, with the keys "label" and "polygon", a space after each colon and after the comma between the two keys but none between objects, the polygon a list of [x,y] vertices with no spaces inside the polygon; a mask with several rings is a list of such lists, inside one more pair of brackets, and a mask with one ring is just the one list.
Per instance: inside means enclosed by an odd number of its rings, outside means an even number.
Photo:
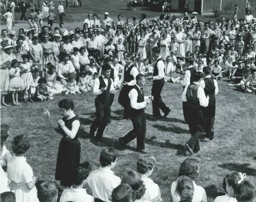
[{"label": "rightmost dancing man, dark vest and trousers, white sleeves", "polygon": [[203,76],[205,79],[200,81],[199,86],[205,90],[205,95],[209,96],[209,105],[203,108],[203,116],[205,117],[205,137],[209,140],[214,138],[214,121],[215,121],[215,95],[218,93],[218,84],[211,76],[211,68],[203,68]]}]

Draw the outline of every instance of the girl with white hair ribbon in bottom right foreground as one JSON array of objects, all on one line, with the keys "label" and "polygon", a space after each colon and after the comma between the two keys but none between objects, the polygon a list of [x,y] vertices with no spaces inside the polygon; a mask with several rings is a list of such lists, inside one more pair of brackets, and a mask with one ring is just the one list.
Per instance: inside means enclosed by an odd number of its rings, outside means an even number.
[{"label": "girl with white hair ribbon in bottom right foreground", "polygon": [[214,202],[237,202],[235,191],[237,190],[239,180],[241,178],[238,172],[227,174],[223,180],[223,189],[226,195],[215,198]]}]

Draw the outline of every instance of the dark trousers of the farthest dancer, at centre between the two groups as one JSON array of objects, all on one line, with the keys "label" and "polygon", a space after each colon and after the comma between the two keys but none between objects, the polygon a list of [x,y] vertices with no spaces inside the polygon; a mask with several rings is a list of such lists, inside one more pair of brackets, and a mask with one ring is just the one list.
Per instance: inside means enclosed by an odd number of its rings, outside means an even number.
[{"label": "dark trousers of the farthest dancer, at centre between the two groups", "polygon": [[163,112],[168,111],[168,107],[163,103],[162,97],[161,97],[161,92],[163,89],[163,85],[165,85],[165,80],[160,79],[160,80],[154,80],[153,86],[152,86],[152,93],[151,95],[154,96],[154,99],[152,101],[152,106],[153,106],[153,116],[158,117],[161,116],[160,109]]}]

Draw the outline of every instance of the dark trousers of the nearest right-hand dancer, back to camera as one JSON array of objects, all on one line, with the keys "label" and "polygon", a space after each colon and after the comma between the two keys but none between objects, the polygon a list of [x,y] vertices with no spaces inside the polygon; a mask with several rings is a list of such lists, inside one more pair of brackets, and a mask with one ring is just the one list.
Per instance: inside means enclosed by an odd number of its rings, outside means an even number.
[{"label": "dark trousers of the nearest right-hand dancer, back to camera", "polygon": [[199,151],[199,138],[203,135],[203,131],[205,130],[205,119],[201,107],[190,106],[188,103],[188,126],[191,138],[188,140],[187,144],[193,148],[194,151]]}]

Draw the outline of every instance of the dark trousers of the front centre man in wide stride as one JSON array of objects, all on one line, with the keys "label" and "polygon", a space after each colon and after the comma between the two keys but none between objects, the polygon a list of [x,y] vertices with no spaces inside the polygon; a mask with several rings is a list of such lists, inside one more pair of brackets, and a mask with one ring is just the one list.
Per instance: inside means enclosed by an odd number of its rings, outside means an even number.
[{"label": "dark trousers of the front centre man in wide stride", "polygon": [[137,137],[137,149],[145,149],[146,117],[145,114],[130,117],[133,122],[133,130],[121,138],[124,145]]}]

